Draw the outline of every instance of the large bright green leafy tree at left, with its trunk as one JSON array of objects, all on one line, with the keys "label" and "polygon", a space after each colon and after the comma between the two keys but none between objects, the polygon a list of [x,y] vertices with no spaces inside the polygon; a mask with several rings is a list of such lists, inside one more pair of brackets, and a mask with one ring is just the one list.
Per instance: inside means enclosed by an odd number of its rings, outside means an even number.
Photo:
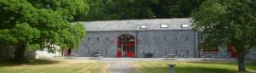
[{"label": "large bright green leafy tree at left, with its trunk", "polygon": [[83,0],[1,0],[0,43],[15,48],[16,61],[26,51],[77,48],[85,35],[84,25],[73,17],[88,8]]}]

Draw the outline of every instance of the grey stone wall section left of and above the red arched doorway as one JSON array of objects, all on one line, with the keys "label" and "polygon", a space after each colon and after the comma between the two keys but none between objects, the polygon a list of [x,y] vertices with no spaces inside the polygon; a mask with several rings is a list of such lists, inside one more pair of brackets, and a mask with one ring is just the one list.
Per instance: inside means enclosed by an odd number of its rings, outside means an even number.
[{"label": "grey stone wall section left of and above the red arched doorway", "polygon": [[91,53],[100,53],[104,57],[116,57],[118,36],[122,34],[135,36],[136,31],[89,31],[84,36],[82,44],[74,53],[87,57]]}]

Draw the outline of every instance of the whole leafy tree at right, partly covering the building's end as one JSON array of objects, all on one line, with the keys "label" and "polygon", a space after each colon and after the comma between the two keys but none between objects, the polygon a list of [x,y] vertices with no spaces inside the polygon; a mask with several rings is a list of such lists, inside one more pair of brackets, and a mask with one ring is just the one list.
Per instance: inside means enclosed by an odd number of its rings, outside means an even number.
[{"label": "whole leafy tree at right, partly covering the building's end", "polygon": [[246,71],[245,55],[256,47],[255,7],[255,0],[207,0],[192,14],[202,45],[234,45],[239,71]]}]

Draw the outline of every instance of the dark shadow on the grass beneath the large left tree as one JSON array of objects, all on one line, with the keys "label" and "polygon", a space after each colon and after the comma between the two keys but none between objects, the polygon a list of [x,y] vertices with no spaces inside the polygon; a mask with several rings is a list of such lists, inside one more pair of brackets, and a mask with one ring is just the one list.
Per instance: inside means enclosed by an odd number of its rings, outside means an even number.
[{"label": "dark shadow on the grass beneath the large left tree", "polygon": [[52,65],[58,64],[60,61],[50,60],[50,59],[29,59],[22,62],[15,62],[12,60],[1,60],[0,67],[4,66],[19,66],[19,65]]}]

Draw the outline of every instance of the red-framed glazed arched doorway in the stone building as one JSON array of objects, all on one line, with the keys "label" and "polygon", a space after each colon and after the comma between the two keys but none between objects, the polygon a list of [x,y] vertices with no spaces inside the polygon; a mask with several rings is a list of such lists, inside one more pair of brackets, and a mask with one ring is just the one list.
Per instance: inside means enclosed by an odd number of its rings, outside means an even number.
[{"label": "red-framed glazed arched doorway in the stone building", "polygon": [[117,57],[134,57],[135,37],[129,34],[123,34],[118,37]]}]

